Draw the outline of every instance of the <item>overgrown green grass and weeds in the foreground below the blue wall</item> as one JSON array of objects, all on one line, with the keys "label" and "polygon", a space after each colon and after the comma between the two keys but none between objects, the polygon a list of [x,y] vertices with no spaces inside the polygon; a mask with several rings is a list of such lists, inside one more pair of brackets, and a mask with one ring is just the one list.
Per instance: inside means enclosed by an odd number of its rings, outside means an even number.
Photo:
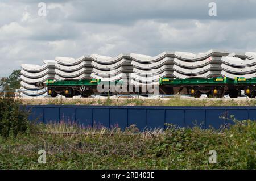
[{"label": "overgrown green grass and weeds in the foreground below the blue wall", "polygon": [[[0,137],[0,169],[256,169],[256,121],[235,123],[229,129],[169,125],[145,132],[135,125],[121,131],[39,124],[31,133]],[[46,164],[38,163],[41,149]],[[216,150],[216,164],[209,163],[209,150]]]}]

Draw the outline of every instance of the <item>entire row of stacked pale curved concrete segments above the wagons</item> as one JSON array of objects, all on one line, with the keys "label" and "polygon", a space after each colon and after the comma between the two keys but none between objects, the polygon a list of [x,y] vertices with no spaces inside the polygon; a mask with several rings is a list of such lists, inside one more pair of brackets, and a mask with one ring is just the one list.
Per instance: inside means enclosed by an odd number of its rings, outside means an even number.
[{"label": "entire row of stacked pale curved concrete segments above the wagons", "polygon": [[[90,79],[116,81],[129,79],[134,85],[158,84],[159,78],[174,79],[256,77],[256,53],[228,53],[209,50],[205,53],[163,52],[156,56],[119,54],[115,57],[91,54],[80,58],[56,57],[43,65],[22,64],[21,83],[24,94],[44,94],[36,82],[47,79]],[[241,77],[241,76],[240,76]],[[40,93],[38,93],[40,91]]]}]

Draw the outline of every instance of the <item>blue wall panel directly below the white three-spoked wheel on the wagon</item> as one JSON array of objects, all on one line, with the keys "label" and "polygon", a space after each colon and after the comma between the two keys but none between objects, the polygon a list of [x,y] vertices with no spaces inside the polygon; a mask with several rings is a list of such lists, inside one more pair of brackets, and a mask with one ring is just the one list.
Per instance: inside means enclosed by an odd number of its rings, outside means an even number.
[{"label": "blue wall panel directly below the white three-spoked wheel on the wagon", "polygon": [[76,122],[85,127],[92,127],[93,124],[92,108],[76,108]]}]

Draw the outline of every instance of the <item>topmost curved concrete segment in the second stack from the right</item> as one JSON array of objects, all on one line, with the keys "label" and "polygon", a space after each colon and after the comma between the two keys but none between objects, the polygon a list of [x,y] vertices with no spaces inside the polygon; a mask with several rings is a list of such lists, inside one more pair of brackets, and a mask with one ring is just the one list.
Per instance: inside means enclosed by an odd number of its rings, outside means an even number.
[{"label": "topmost curved concrete segment in the second stack from the right", "polygon": [[209,50],[205,53],[199,53],[199,54],[193,54],[189,52],[175,52],[175,57],[183,59],[183,60],[204,60],[210,56],[214,57],[222,57],[222,56],[228,56],[228,52],[220,51],[220,50]]}]

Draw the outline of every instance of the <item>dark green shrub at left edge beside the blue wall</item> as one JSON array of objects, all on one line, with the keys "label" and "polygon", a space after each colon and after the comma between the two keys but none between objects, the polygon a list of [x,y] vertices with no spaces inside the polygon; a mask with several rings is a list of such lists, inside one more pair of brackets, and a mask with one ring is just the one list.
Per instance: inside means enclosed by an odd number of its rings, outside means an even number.
[{"label": "dark green shrub at left edge beside the blue wall", "polygon": [[0,135],[16,136],[28,129],[28,113],[20,108],[21,102],[12,96],[0,96]]}]

